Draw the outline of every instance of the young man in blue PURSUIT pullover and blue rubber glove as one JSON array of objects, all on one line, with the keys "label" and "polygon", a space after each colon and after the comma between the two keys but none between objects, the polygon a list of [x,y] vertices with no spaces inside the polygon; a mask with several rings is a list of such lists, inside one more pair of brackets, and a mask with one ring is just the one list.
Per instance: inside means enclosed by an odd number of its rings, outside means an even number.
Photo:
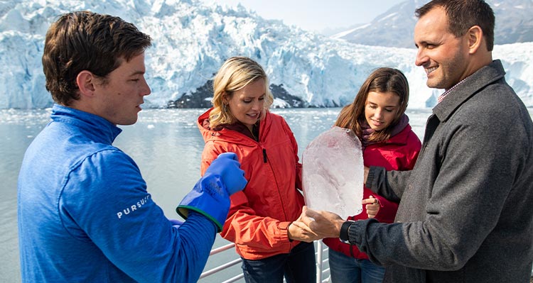
[{"label": "young man in blue PURSUIT pullover and blue rubber glove", "polygon": [[134,160],[112,145],[137,120],[149,35],[114,16],[66,13],[45,38],[52,121],[18,178],[23,282],[196,282],[247,181],[220,155],[181,201],[175,226],[146,192]]}]

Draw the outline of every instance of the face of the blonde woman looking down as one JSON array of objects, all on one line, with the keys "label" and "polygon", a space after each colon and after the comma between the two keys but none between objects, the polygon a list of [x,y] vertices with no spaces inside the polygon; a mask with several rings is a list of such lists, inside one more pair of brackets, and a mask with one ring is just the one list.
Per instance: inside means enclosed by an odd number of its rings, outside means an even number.
[{"label": "face of the blonde woman looking down", "polygon": [[261,117],[265,96],[264,79],[257,79],[226,97],[225,101],[232,115],[252,131],[252,126]]}]

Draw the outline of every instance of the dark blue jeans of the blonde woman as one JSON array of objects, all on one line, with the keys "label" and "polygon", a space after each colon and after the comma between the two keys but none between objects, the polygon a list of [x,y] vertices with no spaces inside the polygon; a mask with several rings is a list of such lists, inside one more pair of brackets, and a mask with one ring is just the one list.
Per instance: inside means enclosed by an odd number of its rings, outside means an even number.
[{"label": "dark blue jeans of the blonde woman", "polygon": [[315,245],[301,242],[290,253],[266,257],[262,260],[242,259],[246,283],[316,282]]}]

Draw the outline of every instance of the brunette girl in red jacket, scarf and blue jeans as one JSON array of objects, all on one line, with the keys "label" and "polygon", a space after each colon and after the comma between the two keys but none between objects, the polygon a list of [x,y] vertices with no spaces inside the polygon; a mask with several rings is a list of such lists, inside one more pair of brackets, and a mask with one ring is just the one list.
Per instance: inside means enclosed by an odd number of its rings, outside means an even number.
[{"label": "brunette girl in red jacket, scarf and blue jeans", "polygon": [[[409,101],[409,84],[399,70],[382,67],[370,74],[352,104],[339,113],[335,126],[349,128],[362,143],[366,167],[386,170],[411,170],[421,143],[409,126],[405,114]],[[348,219],[376,218],[392,223],[398,204],[363,188],[363,210]],[[375,265],[357,246],[325,238],[329,247],[329,266],[333,283],[382,282],[384,267]]]}]

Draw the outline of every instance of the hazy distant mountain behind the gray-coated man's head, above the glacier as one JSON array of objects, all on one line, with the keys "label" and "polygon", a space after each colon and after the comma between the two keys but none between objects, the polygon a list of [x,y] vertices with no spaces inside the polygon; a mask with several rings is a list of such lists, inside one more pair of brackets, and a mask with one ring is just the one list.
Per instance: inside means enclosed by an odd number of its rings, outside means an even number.
[{"label": "hazy distant mountain behind the gray-coated man's head, above the glacier", "polygon": [[[332,35],[350,43],[414,48],[414,10],[429,0],[407,0],[393,6],[362,28]],[[533,0],[487,0],[496,16],[495,44],[533,41]]]}]

